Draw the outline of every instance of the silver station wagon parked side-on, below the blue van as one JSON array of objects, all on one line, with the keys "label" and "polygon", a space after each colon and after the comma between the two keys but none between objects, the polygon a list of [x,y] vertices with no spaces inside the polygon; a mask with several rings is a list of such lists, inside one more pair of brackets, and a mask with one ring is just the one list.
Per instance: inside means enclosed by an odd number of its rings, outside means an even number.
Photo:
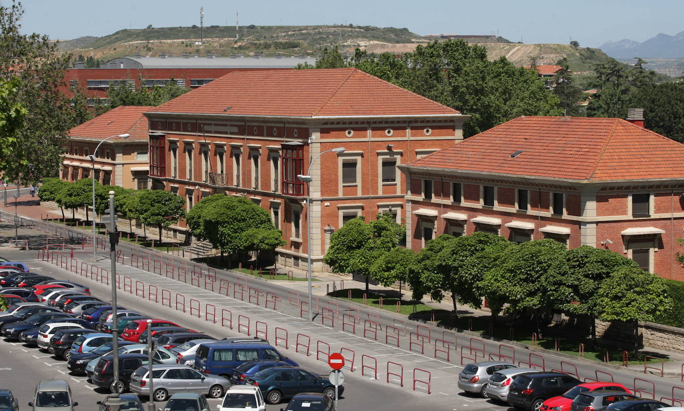
[{"label": "silver station wagon parked side-on, below the blue van", "polygon": [[[131,392],[137,395],[150,395],[148,366],[141,366],[131,375]],[[209,393],[211,398],[220,398],[231,386],[230,380],[219,375],[202,374],[191,366],[163,364],[153,366],[154,399],[166,401],[174,393]]]}]

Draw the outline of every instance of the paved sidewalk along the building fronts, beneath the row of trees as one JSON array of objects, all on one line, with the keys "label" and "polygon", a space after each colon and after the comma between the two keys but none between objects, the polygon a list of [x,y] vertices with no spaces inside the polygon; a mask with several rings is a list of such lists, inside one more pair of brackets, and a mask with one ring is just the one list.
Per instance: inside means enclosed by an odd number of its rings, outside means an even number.
[{"label": "paved sidewalk along the building fronts, beneath the row of trees", "polygon": [[[3,204],[0,202],[0,209],[6,210],[7,212],[11,212],[14,214],[14,201],[8,202],[8,207],[5,208],[3,207]],[[41,219],[42,217],[45,216],[62,216],[60,210],[53,210],[51,208],[47,208],[44,206],[40,205],[40,202],[38,198],[31,198],[30,195],[23,195],[19,197],[18,199],[18,204],[17,204],[17,212],[18,214],[23,214],[23,216],[28,216],[32,219]],[[68,213],[70,214],[70,212]],[[78,217],[78,215],[77,215]],[[84,216],[82,216],[84,217]],[[128,224],[122,224],[122,227],[125,225],[126,229],[129,228]],[[135,231],[135,227],[133,228]],[[140,234],[142,234],[142,229],[139,230]],[[167,240],[165,238],[165,240]],[[133,245],[133,244],[131,244]],[[289,269],[288,269],[289,270]],[[292,270],[294,275],[296,277],[306,277],[306,272],[301,271],[301,270]],[[339,288],[359,288],[359,289],[365,289],[365,282],[358,282],[352,279],[351,277],[343,277],[341,275],[336,275],[332,273],[317,273],[314,275],[315,279],[317,281],[313,282],[313,295],[317,296],[324,296],[328,293],[328,291],[332,291],[334,287]],[[344,286],[341,286],[341,280],[345,282]],[[307,282],[287,282],[287,281],[270,281],[273,284],[278,284],[279,286],[283,286],[286,288],[289,288],[294,291],[298,292],[306,292],[308,290],[308,284]],[[387,292],[387,291],[393,291],[396,292],[395,289],[393,288],[386,288],[382,286],[370,286],[371,290],[377,291],[377,292]],[[407,295],[407,292],[402,290],[404,293],[404,296]],[[422,300],[425,305],[430,306],[432,308],[435,308],[436,310],[446,310],[446,311],[451,311],[453,310],[453,305],[451,304],[450,301],[443,301],[442,303],[436,303],[435,301],[432,301],[430,298],[424,298]],[[373,308],[371,306],[363,306],[359,304],[360,307],[363,307],[365,310],[376,310],[378,312],[384,312],[385,314],[388,313],[388,311],[380,310],[379,308]],[[463,314],[468,314],[471,313],[473,316],[482,316],[482,317],[488,317],[490,316],[490,313],[485,311],[485,310],[474,310],[472,308],[466,308],[464,306],[459,306],[460,310],[460,315],[461,312],[464,312]],[[399,314],[397,314],[398,316]],[[433,324],[434,325],[434,324]],[[469,333],[469,332],[465,332]],[[479,336],[479,334],[470,332],[470,334],[473,334],[475,336]],[[662,355],[668,356],[670,361],[665,362],[663,364],[663,371],[666,375],[676,375],[679,376],[681,375],[681,365],[684,363],[684,353],[678,353],[674,351],[663,351],[659,349],[655,349],[652,347],[644,347],[644,351],[651,351],[653,353],[659,353]],[[555,355],[560,355],[564,356],[562,353],[555,353],[555,351],[549,351],[549,353],[553,353]],[[568,356],[568,358],[571,358],[573,360],[577,359],[577,357],[574,356]],[[596,363],[600,364],[600,363]],[[650,365],[650,364],[649,364]],[[659,364],[658,364],[659,366]],[[616,367],[617,368],[617,367]],[[623,369],[620,367],[620,369]],[[637,362],[631,362],[629,369],[632,371],[643,371],[644,370],[644,364],[643,362],[637,363]]]}]

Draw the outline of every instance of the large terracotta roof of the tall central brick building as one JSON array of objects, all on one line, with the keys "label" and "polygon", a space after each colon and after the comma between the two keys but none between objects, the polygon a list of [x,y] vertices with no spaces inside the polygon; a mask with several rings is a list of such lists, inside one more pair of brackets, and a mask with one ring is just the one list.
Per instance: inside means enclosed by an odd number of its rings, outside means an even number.
[{"label": "large terracotta roof of the tall central brick building", "polygon": [[235,71],[152,111],[303,117],[459,114],[358,69]]}]

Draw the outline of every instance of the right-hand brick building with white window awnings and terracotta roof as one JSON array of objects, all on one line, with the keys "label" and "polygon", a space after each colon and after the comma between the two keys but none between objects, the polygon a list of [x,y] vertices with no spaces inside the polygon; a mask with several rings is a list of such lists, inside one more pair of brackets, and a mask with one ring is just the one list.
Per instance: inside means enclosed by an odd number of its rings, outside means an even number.
[{"label": "right-hand brick building with white window awnings and terracotta roof", "polygon": [[522,116],[400,166],[408,247],[475,231],[553,238],[684,280],[684,145],[630,119]]}]

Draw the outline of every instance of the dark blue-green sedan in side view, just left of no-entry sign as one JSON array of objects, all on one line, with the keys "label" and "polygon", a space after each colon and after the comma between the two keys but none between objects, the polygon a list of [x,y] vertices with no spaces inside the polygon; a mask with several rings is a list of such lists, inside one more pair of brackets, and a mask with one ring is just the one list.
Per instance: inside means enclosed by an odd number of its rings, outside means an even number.
[{"label": "dark blue-green sedan in side view, just left of no-entry sign", "polygon": [[[279,404],[282,399],[299,393],[323,393],[330,398],[335,395],[335,387],[326,377],[293,366],[274,366],[259,371],[248,378],[246,384],[259,386],[269,404]],[[337,393],[342,395],[344,386],[337,387]]]}]

